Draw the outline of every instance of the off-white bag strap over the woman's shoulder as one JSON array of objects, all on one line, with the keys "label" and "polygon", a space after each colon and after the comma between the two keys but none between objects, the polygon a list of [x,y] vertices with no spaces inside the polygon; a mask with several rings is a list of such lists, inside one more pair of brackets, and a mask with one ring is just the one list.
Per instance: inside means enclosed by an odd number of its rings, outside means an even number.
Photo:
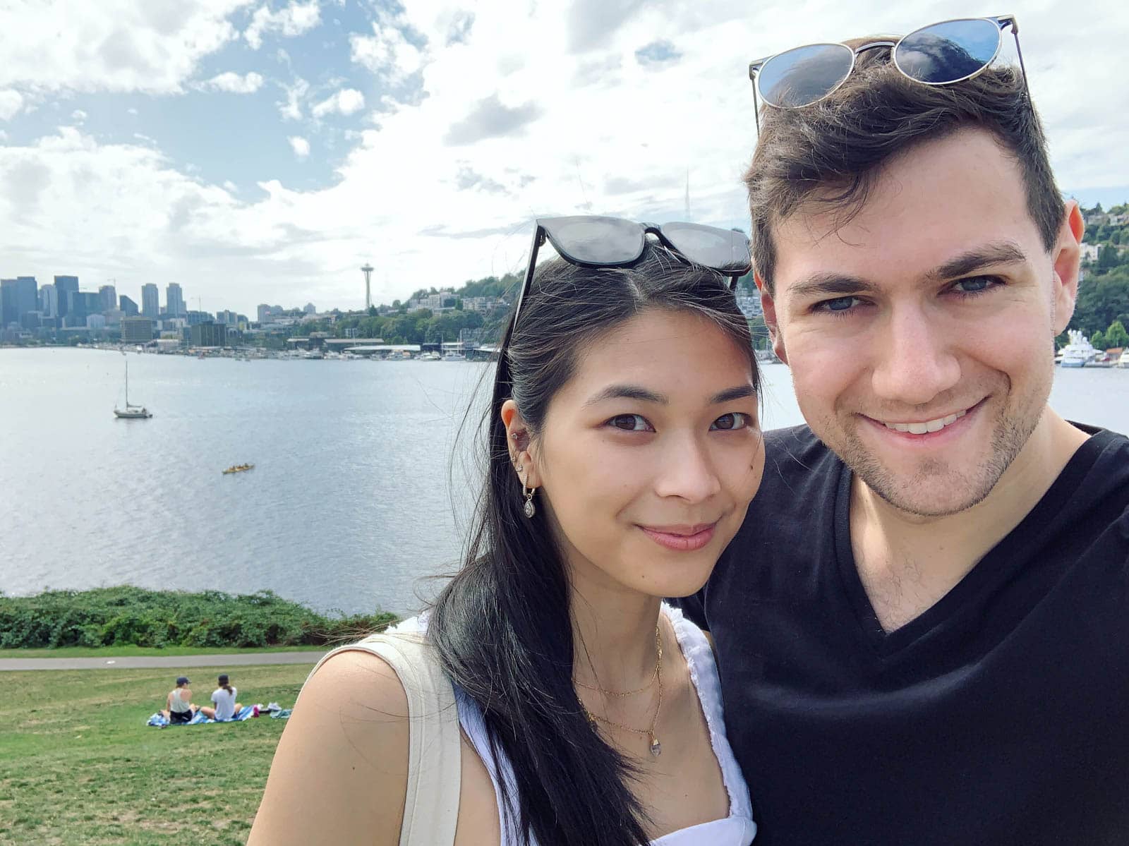
[{"label": "off-white bag strap over the woman's shoulder", "polygon": [[422,635],[396,633],[373,635],[341,648],[384,659],[408,696],[408,795],[400,846],[452,846],[458,821],[462,740],[455,691],[431,645]]}]

